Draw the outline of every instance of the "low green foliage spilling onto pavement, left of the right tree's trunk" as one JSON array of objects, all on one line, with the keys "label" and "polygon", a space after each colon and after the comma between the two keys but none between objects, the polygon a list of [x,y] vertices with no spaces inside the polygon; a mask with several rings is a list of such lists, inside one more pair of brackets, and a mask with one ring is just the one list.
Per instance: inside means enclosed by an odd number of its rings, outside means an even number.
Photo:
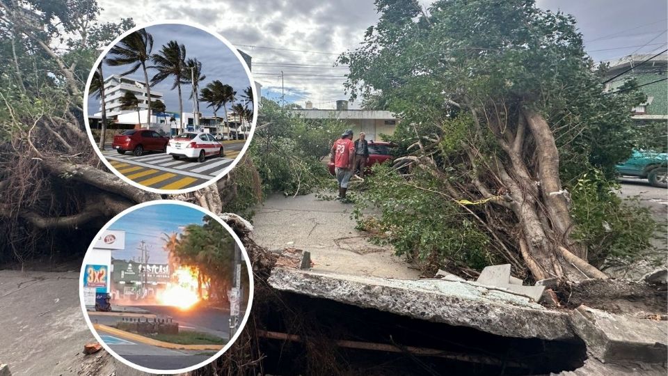
[{"label": "low green foliage spilling onto pavement, left of the right tree's trunk", "polygon": [[[482,269],[500,261],[490,251],[488,235],[441,193],[433,176],[417,173],[408,182],[387,164],[373,171],[355,214],[360,228],[375,234],[376,242],[392,244],[398,255],[422,260],[432,272],[440,265]],[[367,205],[381,215],[364,218]]]}]

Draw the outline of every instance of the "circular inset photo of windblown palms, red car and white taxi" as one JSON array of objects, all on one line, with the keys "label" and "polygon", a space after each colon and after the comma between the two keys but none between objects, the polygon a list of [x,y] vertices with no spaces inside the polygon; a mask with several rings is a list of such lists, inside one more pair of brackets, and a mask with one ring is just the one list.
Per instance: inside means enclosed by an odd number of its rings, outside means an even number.
[{"label": "circular inset photo of windblown palms, red car and white taxi", "polygon": [[159,194],[222,178],[255,130],[260,84],[251,57],[191,23],[137,26],[106,47],[88,76],[88,137],[106,166]]}]

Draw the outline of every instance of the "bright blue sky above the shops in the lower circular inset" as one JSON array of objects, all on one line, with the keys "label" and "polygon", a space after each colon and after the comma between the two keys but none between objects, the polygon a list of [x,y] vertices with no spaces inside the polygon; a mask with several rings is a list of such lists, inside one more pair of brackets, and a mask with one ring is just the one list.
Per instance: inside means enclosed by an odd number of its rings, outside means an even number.
[{"label": "bright blue sky above the shops in the lower circular inset", "polygon": [[125,250],[112,251],[111,257],[132,260],[139,257],[139,242],[146,242],[149,249],[149,263],[167,263],[167,253],[163,233],[181,233],[181,228],[189,224],[204,224],[204,212],[183,205],[170,203],[141,207],[109,226],[109,230],[125,231]]}]

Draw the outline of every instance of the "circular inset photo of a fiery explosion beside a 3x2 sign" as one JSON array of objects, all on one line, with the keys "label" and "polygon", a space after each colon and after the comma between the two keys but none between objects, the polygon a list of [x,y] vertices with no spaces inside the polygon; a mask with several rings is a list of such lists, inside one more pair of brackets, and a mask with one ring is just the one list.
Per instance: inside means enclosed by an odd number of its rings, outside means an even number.
[{"label": "circular inset photo of a fiery explosion beside a 3x2 sign", "polygon": [[241,334],[253,276],[239,237],[212,212],[151,201],[100,230],[81,265],[79,296],[90,331],[118,360],[184,373]]}]

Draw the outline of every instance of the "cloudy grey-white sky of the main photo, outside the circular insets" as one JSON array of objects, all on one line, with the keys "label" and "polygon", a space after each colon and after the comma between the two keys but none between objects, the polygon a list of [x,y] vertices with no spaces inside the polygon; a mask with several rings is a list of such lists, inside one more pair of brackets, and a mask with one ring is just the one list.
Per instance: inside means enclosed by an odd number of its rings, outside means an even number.
[{"label": "cloudy grey-white sky of the main photo, outside the circular insets", "polygon": [[[378,19],[371,0],[99,1],[104,20],[187,19],[212,27],[253,57],[253,78],[262,84],[263,96],[280,98],[283,70],[286,102],[310,100],[323,109],[347,97],[342,86],[347,68],[333,67],[336,56],[354,49]],[[595,61],[660,52],[667,44],[664,0],[538,0],[537,5],[574,15]]]}]

